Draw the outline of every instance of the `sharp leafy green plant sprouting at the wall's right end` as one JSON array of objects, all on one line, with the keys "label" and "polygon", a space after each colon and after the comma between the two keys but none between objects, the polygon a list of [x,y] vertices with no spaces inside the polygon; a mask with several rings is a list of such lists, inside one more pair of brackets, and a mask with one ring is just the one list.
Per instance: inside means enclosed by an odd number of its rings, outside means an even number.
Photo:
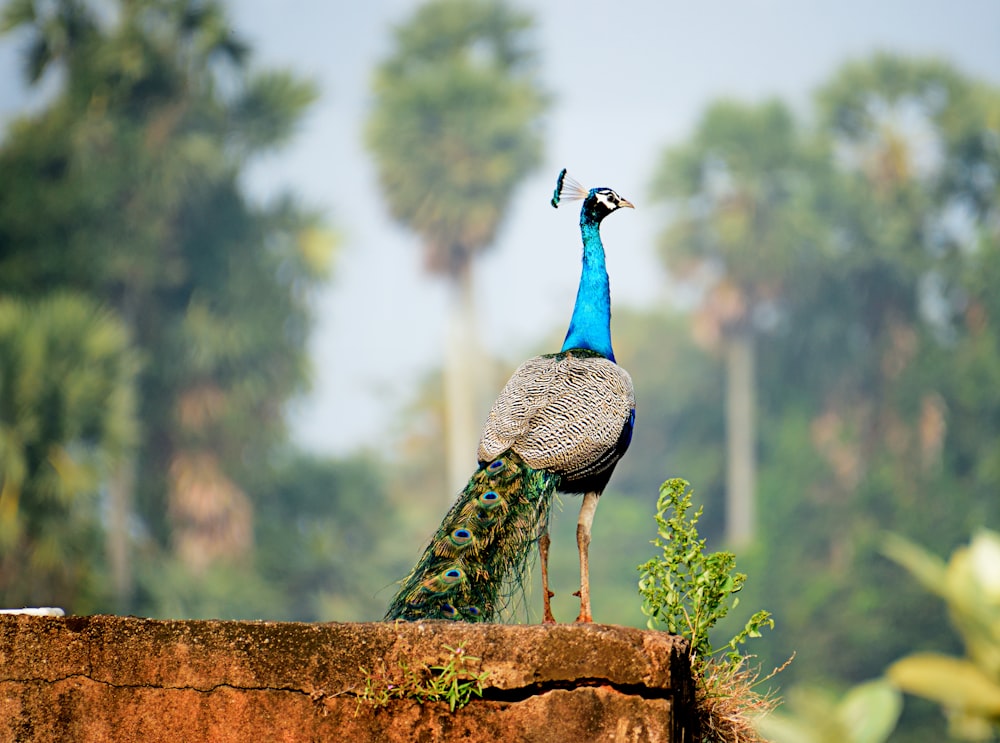
[{"label": "sharp leafy green plant sprouting at the wall's right end", "polygon": [[691,491],[681,479],[667,480],[660,488],[656,504],[659,536],[653,544],[662,556],[639,566],[639,595],[649,627],[662,624],[673,634],[686,637],[693,656],[707,659],[722,651],[732,664],[742,657],[739,648],[748,638],[760,637],[762,627],[774,627],[769,612],[756,612],[725,644],[714,647],[709,631],[736,608],[736,593],[743,588],[746,575],[734,573],[736,557],[731,552],[705,554],[705,540],[698,535],[697,524],[702,509],[688,515]]}]

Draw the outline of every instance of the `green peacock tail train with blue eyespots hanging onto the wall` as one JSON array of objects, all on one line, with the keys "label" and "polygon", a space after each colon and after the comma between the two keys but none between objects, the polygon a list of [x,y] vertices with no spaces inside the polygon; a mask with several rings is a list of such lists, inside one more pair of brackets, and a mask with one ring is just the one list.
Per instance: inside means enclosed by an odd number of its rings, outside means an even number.
[{"label": "green peacock tail train with blue eyespots hanging onto the wall", "polygon": [[521,587],[559,480],[513,451],[481,463],[385,618],[496,621]]}]

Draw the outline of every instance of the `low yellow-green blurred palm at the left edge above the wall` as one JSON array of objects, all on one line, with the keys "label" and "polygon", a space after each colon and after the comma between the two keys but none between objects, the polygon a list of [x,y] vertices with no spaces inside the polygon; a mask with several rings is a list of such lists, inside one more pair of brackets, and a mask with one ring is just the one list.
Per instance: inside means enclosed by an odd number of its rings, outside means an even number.
[{"label": "low yellow-green blurred palm at the left edge above the wall", "polygon": [[106,599],[95,502],[136,441],[137,371],[90,299],[0,298],[0,606]]}]

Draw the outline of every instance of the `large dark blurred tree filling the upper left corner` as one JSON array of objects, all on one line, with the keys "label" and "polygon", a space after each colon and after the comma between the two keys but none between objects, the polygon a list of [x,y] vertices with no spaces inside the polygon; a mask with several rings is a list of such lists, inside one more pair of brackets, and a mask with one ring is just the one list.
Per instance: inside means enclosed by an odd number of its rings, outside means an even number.
[{"label": "large dark blurred tree filling the upper left corner", "polygon": [[139,511],[198,570],[247,554],[241,483],[306,381],[308,292],[329,240],[291,198],[250,203],[240,178],[314,92],[252,71],[213,0],[110,11],[86,0],[4,10],[4,28],[28,41],[28,79],[61,74],[47,108],[15,121],[0,148],[0,292],[72,287],[124,319],[144,360]]}]

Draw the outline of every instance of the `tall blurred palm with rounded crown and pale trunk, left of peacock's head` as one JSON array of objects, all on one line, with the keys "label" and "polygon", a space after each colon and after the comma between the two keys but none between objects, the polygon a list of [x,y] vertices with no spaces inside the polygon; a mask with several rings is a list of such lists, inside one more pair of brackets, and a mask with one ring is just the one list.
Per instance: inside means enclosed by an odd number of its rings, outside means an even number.
[{"label": "tall blurred palm with rounded crown and pale trunk, left of peacock's head", "polygon": [[541,159],[548,101],[531,26],[502,0],[431,0],[396,30],[373,84],[367,143],[389,211],[420,235],[427,270],[455,292],[445,363],[445,461],[455,492],[479,433],[472,261]]}]

